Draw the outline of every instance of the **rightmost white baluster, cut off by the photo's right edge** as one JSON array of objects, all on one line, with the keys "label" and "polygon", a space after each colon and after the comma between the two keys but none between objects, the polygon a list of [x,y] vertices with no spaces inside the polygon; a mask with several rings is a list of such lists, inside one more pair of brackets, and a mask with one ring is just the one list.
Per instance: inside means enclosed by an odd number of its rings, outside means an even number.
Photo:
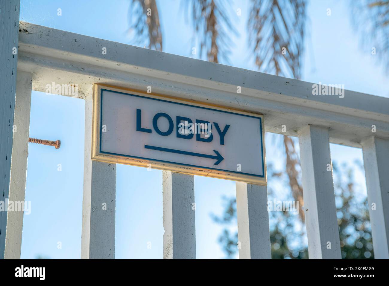
[{"label": "rightmost white baluster, cut off by the photo's right edge", "polygon": [[389,140],[362,143],[374,258],[389,259]]}]

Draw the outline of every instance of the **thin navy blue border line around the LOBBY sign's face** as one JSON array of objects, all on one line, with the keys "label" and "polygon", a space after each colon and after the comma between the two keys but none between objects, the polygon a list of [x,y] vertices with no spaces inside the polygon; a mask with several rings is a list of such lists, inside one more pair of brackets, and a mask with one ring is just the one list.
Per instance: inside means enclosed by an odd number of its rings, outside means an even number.
[{"label": "thin navy blue border line around the LOBBY sign's face", "polygon": [[[101,138],[102,138],[102,136],[101,136],[102,135],[101,134],[102,133],[101,126],[102,126],[102,120],[103,120],[103,116],[102,116],[103,115],[103,91],[116,92],[116,93],[119,93],[119,94],[136,96],[136,97],[140,97],[140,98],[158,100],[158,101],[163,101],[163,102],[168,102],[168,103],[174,103],[174,104],[179,104],[179,105],[186,105],[186,106],[191,106],[191,107],[196,107],[196,108],[203,108],[203,109],[214,110],[214,111],[218,111],[218,112],[225,112],[225,113],[230,113],[230,114],[247,116],[247,117],[252,117],[252,118],[259,119],[259,128],[261,129],[261,154],[262,154],[262,171],[263,171],[263,175],[242,173],[242,172],[237,172],[237,171],[228,171],[228,170],[223,170],[223,169],[216,169],[216,168],[210,168],[210,167],[189,165],[189,164],[170,162],[170,161],[165,161],[165,160],[157,160],[157,159],[151,159],[151,158],[123,155],[123,154],[117,154],[117,153],[111,153],[111,152],[104,152],[104,151],[102,151],[101,150]],[[182,166],[191,166],[191,167],[202,168],[202,169],[211,169],[211,170],[223,171],[223,172],[227,172],[227,173],[245,174],[245,175],[249,175],[249,176],[256,176],[256,177],[260,177],[260,178],[265,178],[265,166],[264,166],[265,165],[264,164],[264,157],[265,156],[263,154],[263,140],[262,140],[263,134],[262,134],[262,132],[263,132],[263,128],[262,128],[262,118],[261,117],[256,117],[256,116],[247,115],[247,114],[241,114],[241,113],[235,113],[235,112],[230,112],[230,111],[225,111],[225,110],[219,110],[219,109],[214,109],[214,108],[208,108],[208,107],[204,107],[204,106],[190,105],[190,104],[186,104],[186,103],[169,101],[169,100],[165,100],[165,99],[152,98],[152,97],[148,97],[148,96],[141,96],[141,95],[137,95],[137,94],[130,94],[130,93],[126,93],[126,92],[112,91],[110,89],[103,89],[102,88],[101,91],[100,91],[100,153],[102,153],[102,154],[110,154],[110,155],[116,155],[116,156],[122,156],[122,157],[128,157],[128,158],[145,159],[145,160],[158,161],[158,162],[164,162],[164,163],[170,163],[170,164],[179,164],[179,165],[182,165]]]}]

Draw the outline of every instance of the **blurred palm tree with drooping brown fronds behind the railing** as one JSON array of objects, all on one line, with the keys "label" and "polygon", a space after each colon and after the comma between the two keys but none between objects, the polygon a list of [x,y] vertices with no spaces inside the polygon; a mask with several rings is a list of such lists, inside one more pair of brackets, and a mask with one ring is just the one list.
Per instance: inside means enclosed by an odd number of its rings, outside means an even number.
[{"label": "blurred palm tree with drooping brown fronds behind the railing", "polygon": [[[306,6],[308,0],[249,0],[248,47],[259,71],[300,79],[304,52]],[[138,39],[149,40],[149,48],[162,51],[162,34],[156,0],[131,0],[130,23]],[[231,40],[228,32],[237,33],[226,14],[226,0],[183,0],[184,12],[191,14],[193,28],[202,52],[209,61],[228,63]],[[351,1],[354,26],[361,31],[363,44],[374,44],[381,63],[389,71],[389,0]],[[151,13],[150,13],[151,11]],[[148,14],[149,12],[149,14]],[[362,25],[360,25],[362,23]],[[226,31],[228,30],[228,32]],[[373,52],[373,48],[372,48]],[[295,201],[304,205],[300,159],[295,149],[296,138],[284,136],[286,174]],[[304,222],[304,212],[299,216]]]}]

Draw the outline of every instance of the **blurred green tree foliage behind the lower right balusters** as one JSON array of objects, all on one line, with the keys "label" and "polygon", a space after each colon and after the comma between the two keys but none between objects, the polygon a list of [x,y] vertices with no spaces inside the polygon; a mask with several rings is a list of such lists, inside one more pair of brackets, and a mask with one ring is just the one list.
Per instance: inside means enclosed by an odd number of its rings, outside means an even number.
[{"label": "blurred green tree foliage behind the lower right balusters", "polygon": [[[361,164],[358,166],[362,168]],[[333,173],[342,258],[373,258],[368,202],[361,188],[354,183],[354,169],[347,164],[338,167],[334,162]],[[268,176],[273,183],[277,181],[287,187],[287,174],[276,172],[271,164],[268,166]],[[277,196],[272,185],[268,186],[269,201]],[[291,198],[293,196],[290,194],[287,199]],[[219,243],[226,258],[233,258],[238,251],[238,233],[231,232],[231,225],[237,222],[236,198],[223,199],[225,211],[222,216],[213,215],[213,219],[225,225]],[[269,212],[269,220],[273,259],[308,258],[306,232],[301,216],[288,211],[275,211]]]}]

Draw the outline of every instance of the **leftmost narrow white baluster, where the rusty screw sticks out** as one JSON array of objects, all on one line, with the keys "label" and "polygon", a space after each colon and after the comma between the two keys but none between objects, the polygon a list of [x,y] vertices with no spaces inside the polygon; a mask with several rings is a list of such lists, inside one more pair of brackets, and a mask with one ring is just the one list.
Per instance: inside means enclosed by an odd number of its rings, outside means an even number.
[{"label": "leftmost narrow white baluster, where the rusty screw sticks out", "polygon": [[[24,202],[27,176],[28,135],[30,131],[32,74],[18,72],[11,157],[9,201]],[[4,258],[19,259],[23,231],[23,211],[9,211]]]}]

